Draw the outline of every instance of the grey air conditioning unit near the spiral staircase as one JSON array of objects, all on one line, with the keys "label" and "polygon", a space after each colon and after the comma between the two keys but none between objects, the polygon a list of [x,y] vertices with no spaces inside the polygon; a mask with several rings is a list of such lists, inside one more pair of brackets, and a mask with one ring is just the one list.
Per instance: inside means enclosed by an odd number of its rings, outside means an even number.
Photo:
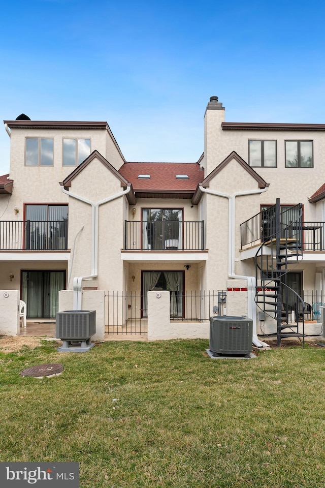
[{"label": "grey air conditioning unit near the spiral staircase", "polygon": [[210,317],[210,351],[216,355],[249,355],[253,321],[245,317]]}]

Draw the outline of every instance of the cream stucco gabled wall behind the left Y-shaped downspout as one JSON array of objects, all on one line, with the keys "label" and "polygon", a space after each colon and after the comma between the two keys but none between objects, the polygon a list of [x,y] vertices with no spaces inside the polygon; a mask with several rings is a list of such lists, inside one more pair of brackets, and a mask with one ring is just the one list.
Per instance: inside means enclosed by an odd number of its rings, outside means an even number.
[{"label": "cream stucco gabled wall behind the left Y-shaped downspout", "polygon": [[[102,162],[94,159],[72,181],[71,192],[97,203],[122,192],[120,180]],[[99,207],[98,278],[102,290],[122,290],[123,272],[120,252],[123,246],[125,197]],[[69,245],[72,248],[77,233],[72,276],[91,273],[91,206],[75,198],[69,201]],[[83,286],[85,284],[83,283]],[[89,282],[89,286],[92,284]]]}]

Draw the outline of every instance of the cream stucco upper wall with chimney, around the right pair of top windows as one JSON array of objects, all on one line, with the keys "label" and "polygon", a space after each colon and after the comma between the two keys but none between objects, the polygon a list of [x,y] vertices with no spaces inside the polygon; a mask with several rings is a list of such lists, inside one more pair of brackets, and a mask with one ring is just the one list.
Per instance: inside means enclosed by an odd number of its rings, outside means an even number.
[{"label": "cream stucco upper wall with chimney, around the right pair of top windows", "polygon": [[[220,120],[216,111],[208,110],[207,137],[209,147],[208,174],[220,164],[231,151],[236,151],[248,163],[249,140],[276,140],[277,167],[253,168],[269,184],[261,203],[273,204],[277,197],[281,204],[304,203],[305,220],[316,220],[316,206],[308,202],[325,179],[323,154],[325,151],[325,134],[313,131],[228,131],[220,129]],[[285,141],[313,141],[313,168],[285,168]]]}]

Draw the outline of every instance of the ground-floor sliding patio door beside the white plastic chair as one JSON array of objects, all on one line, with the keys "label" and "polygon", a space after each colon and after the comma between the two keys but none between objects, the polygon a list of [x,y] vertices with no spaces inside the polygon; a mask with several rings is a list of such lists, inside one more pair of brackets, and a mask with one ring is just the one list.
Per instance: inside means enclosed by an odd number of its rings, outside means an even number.
[{"label": "ground-floor sliding patio door beside the white plastic chair", "polygon": [[58,312],[59,290],[66,287],[66,271],[22,271],[21,282],[27,318],[55,318]]}]

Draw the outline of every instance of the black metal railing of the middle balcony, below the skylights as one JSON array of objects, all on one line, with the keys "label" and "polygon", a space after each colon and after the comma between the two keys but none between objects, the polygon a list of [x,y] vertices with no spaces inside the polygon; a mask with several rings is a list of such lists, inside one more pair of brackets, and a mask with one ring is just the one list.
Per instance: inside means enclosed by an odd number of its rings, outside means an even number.
[{"label": "black metal railing of the middle balcony, below the skylights", "polygon": [[203,251],[204,221],[125,221],[124,249]]}]

